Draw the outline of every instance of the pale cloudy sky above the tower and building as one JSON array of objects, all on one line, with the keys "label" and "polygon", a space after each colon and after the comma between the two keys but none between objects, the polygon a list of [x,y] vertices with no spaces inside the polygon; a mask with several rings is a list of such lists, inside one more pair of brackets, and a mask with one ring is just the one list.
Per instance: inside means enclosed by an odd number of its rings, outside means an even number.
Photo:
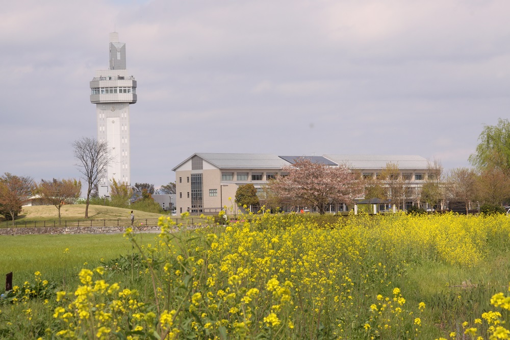
[{"label": "pale cloudy sky above the tower and building", "polygon": [[194,153],[419,155],[469,166],[507,118],[507,0],[1,1],[0,173],[78,178],[109,33],[137,80],[131,182]]}]

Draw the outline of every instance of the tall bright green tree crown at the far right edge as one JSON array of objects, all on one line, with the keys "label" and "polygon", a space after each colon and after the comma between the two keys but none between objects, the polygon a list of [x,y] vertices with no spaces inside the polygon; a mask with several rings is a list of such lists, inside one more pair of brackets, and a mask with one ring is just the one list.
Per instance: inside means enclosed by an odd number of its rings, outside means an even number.
[{"label": "tall bright green tree crown at the far right edge", "polygon": [[510,176],[510,122],[498,119],[498,124],[486,125],[478,137],[476,153],[469,161],[478,169],[495,167]]}]

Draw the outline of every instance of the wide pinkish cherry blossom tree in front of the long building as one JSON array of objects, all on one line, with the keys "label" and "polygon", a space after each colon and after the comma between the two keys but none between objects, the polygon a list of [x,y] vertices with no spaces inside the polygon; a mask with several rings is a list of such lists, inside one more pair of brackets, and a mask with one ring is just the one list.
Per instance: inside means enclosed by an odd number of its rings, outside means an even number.
[{"label": "wide pinkish cherry blossom tree in front of the long building", "polygon": [[330,203],[349,204],[363,194],[359,175],[344,165],[329,166],[301,158],[282,172],[288,175],[269,182],[271,191],[282,202],[317,207],[320,214],[325,213]]}]

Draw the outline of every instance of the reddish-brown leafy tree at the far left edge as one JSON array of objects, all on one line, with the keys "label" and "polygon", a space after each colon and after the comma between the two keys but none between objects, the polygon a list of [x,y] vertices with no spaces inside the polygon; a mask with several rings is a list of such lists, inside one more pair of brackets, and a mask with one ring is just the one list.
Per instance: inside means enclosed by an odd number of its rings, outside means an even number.
[{"label": "reddish-brown leafy tree at the far left edge", "polygon": [[6,218],[14,218],[21,211],[34,190],[34,180],[31,177],[20,177],[5,173],[0,177],[0,213]]}]

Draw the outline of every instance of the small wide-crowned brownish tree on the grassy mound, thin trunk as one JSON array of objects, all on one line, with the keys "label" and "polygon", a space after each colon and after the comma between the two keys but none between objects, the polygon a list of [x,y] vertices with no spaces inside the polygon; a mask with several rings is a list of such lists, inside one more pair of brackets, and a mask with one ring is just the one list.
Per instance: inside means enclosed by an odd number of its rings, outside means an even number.
[{"label": "small wide-crowned brownish tree on the grassy mound, thin trunk", "polygon": [[37,192],[44,202],[54,205],[59,211],[64,204],[73,204],[80,197],[82,182],[75,179],[53,179],[53,181],[41,180]]}]

